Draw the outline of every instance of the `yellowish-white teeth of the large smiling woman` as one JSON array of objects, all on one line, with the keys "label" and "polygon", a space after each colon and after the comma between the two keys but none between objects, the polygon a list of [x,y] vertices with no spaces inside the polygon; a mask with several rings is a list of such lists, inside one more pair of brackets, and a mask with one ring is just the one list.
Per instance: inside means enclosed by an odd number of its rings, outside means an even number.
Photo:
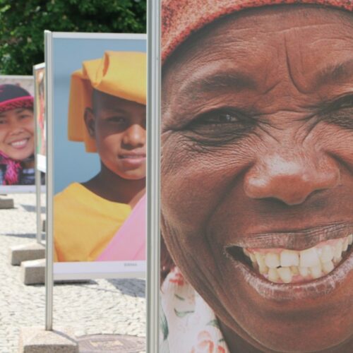
[{"label": "yellowish-white teeth of the large smiling woman", "polygon": [[316,280],[330,273],[342,261],[353,234],[322,241],[302,251],[287,249],[243,249],[258,273],[275,283]]}]

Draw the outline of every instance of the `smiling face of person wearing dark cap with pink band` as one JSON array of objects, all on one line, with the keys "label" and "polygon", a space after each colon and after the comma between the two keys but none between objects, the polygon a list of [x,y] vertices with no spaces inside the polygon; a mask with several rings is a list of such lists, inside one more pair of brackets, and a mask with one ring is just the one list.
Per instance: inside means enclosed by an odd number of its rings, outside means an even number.
[{"label": "smiling face of person wearing dark cap with pink band", "polygon": [[13,160],[25,160],[34,152],[34,121],[30,109],[0,113],[0,150]]}]

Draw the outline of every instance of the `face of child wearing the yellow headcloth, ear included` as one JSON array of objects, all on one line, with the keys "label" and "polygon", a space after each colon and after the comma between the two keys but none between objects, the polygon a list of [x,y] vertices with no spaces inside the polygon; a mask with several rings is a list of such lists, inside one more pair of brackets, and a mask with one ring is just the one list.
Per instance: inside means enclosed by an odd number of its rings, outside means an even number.
[{"label": "face of child wearing the yellow headcloth, ear included", "polygon": [[146,107],[95,91],[85,123],[102,163],[124,179],[146,175]]}]

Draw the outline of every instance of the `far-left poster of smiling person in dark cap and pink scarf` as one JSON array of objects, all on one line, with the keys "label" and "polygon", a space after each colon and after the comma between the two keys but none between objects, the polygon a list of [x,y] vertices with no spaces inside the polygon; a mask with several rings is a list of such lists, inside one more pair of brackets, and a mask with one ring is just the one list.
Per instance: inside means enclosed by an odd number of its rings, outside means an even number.
[{"label": "far-left poster of smiling person in dark cap and pink scarf", "polygon": [[32,76],[0,76],[0,192],[35,191]]}]

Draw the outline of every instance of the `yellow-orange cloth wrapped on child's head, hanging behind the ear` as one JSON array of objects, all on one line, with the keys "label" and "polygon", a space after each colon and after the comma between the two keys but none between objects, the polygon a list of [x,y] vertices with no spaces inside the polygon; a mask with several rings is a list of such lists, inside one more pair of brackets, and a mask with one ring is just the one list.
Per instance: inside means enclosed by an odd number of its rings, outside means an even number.
[{"label": "yellow-orange cloth wrapped on child's head, hanging behind the ear", "polygon": [[68,104],[68,139],[84,141],[87,152],[96,152],[95,140],[85,127],[86,108],[92,108],[92,89],[124,100],[146,104],[146,54],[105,52],[102,59],[83,61],[71,75]]}]

